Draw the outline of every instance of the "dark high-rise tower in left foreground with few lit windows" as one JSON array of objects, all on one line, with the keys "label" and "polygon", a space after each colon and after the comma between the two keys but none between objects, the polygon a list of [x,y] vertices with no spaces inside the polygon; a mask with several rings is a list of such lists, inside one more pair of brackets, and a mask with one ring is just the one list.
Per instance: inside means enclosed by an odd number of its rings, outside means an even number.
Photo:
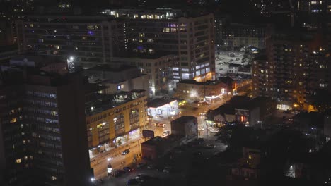
[{"label": "dark high-rise tower in left foreground with few lit windows", "polygon": [[2,185],[90,185],[83,78],[22,63],[1,75]]}]

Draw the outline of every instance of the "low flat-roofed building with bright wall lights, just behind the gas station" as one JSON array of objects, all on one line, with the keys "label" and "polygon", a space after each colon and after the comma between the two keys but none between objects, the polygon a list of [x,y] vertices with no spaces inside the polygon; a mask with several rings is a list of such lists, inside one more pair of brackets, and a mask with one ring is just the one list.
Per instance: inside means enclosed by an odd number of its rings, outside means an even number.
[{"label": "low flat-roofed building with bright wall lights, just behind the gas station", "polygon": [[226,85],[219,81],[197,82],[195,80],[182,80],[177,83],[175,97],[203,101],[215,99],[224,94]]}]

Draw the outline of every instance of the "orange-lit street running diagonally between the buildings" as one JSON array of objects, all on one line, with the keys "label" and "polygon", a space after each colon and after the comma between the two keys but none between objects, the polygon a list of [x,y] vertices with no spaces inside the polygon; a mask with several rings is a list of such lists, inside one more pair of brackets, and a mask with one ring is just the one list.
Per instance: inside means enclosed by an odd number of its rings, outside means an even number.
[{"label": "orange-lit street running diagonally between the buildings", "polygon": [[[245,94],[245,89],[247,89],[250,85],[249,82],[243,82],[240,85],[241,90],[239,95]],[[170,120],[178,118],[180,116],[194,116],[198,118],[198,126],[204,126],[205,130],[199,130],[199,137],[205,138],[207,140],[214,141],[216,138],[214,137],[214,133],[211,133],[207,130],[207,125],[204,116],[200,116],[199,113],[205,113],[209,109],[216,109],[222,104],[226,103],[231,99],[231,97],[226,97],[224,99],[218,99],[216,101],[211,101],[210,104],[187,104],[185,107],[180,109],[180,114],[175,117],[154,117],[149,119],[149,124],[146,125],[146,129],[153,130],[155,132],[155,136],[163,136],[163,132],[171,131]],[[156,126],[156,123],[165,124],[164,127]],[[117,149],[111,149],[110,151],[105,151],[102,154],[99,154],[97,158],[94,158],[94,161],[91,161],[91,167],[94,170],[95,179],[105,178],[107,176],[107,166],[108,163],[111,164],[113,169],[122,169],[124,166],[132,165],[134,161],[134,157],[137,158],[139,162],[141,160],[141,142],[144,142],[144,139],[139,138],[138,140],[134,140],[127,144],[123,144],[121,147]],[[129,149],[130,152],[127,155],[122,155],[122,151],[125,149]],[[217,149],[217,148],[216,148]],[[221,147],[218,151],[222,151],[226,149],[226,147]],[[211,154],[209,154],[211,155]],[[111,158],[111,159],[110,159]],[[110,159],[108,161],[108,159]],[[120,180],[120,179],[119,179]]]}]

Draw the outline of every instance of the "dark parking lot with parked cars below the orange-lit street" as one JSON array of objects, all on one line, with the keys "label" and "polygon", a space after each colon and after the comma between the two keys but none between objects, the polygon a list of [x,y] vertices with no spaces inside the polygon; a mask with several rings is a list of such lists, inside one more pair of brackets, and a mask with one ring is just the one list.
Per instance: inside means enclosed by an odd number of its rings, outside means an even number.
[{"label": "dark parking lot with parked cars below the orange-lit street", "polygon": [[96,185],[127,185],[128,180],[135,179],[139,174],[153,178],[153,182],[146,181],[139,185],[187,185],[187,175],[198,168],[199,163],[204,163],[211,156],[226,150],[225,144],[216,142],[214,135],[212,138],[212,140],[199,139],[176,147],[156,163],[146,162],[141,168],[132,166],[134,171],[123,173],[117,178],[108,176],[103,183],[98,182]]}]

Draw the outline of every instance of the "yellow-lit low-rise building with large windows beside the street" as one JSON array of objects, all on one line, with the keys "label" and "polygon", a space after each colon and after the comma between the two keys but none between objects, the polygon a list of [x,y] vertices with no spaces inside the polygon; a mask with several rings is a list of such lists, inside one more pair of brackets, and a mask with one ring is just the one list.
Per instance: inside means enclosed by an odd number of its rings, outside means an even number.
[{"label": "yellow-lit low-rise building with large windows beside the street", "polygon": [[147,121],[144,90],[92,94],[86,101],[88,147],[93,153],[115,147],[141,134]]}]

